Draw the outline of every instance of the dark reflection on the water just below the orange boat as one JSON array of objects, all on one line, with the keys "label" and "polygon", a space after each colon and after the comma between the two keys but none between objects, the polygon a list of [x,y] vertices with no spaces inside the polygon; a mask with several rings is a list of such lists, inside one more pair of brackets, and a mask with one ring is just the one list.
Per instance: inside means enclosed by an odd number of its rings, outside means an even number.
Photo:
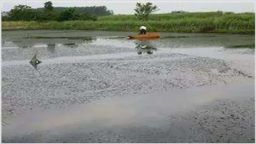
[{"label": "dark reflection on the water just below the orange boat", "polygon": [[152,40],[136,40],[135,45],[135,49],[138,55],[141,55],[143,53],[153,54],[154,51],[157,50]]}]

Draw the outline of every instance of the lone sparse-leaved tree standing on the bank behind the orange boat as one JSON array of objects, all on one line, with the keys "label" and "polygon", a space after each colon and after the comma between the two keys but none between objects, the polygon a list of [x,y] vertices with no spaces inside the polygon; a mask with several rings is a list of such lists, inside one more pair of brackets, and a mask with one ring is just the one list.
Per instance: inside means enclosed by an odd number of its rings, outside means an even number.
[{"label": "lone sparse-leaved tree standing on the bank behind the orange boat", "polygon": [[137,2],[136,7],[134,9],[134,11],[135,11],[134,15],[139,20],[148,20],[149,14],[154,13],[159,10],[160,9],[156,5],[153,5],[151,2],[147,2],[146,4],[141,4],[141,3]]}]

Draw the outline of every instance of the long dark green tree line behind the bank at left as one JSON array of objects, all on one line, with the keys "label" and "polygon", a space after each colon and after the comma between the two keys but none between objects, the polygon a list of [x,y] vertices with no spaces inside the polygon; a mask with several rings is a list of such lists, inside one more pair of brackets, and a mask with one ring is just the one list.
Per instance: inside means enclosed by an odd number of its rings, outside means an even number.
[{"label": "long dark green tree line behind the bank at left", "polygon": [[32,9],[29,5],[15,5],[10,11],[2,12],[2,21],[67,21],[93,20],[98,16],[113,15],[106,6],[91,7],[54,7],[51,1],[44,7]]}]

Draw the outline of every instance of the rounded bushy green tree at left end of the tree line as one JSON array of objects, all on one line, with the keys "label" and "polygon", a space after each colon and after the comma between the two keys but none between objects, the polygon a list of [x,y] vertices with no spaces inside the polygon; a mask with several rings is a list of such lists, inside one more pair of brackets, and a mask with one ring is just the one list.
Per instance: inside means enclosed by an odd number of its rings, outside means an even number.
[{"label": "rounded bushy green tree at left end of the tree line", "polygon": [[32,8],[28,5],[15,5],[8,14],[9,18],[14,21],[29,21],[33,20],[35,13]]}]

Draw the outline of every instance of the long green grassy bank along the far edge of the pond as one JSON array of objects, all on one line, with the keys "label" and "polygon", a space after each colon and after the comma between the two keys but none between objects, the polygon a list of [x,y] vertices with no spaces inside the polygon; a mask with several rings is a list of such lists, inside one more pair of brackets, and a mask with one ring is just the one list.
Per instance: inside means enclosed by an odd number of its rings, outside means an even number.
[{"label": "long green grassy bank along the far edge of the pond", "polygon": [[[148,31],[158,32],[215,32],[255,33],[255,14],[177,13],[152,14],[147,22],[136,20],[134,15],[102,16],[98,21],[66,22],[2,22],[2,29],[50,29],[50,30],[105,30],[138,31],[140,25],[147,25]],[[206,27],[208,29],[206,29]]]}]

